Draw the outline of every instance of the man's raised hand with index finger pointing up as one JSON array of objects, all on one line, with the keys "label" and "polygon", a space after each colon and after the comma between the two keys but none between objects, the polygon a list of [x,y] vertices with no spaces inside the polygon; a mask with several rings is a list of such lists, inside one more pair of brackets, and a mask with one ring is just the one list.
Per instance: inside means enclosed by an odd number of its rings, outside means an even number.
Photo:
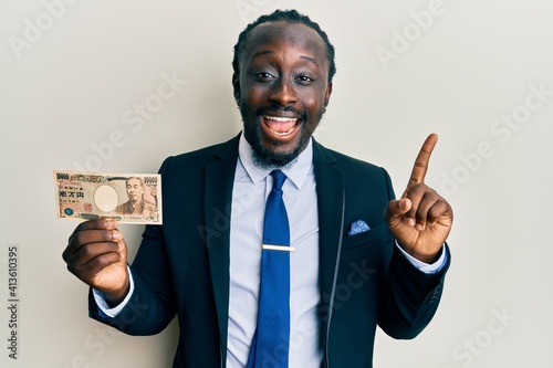
[{"label": "man's raised hand with index finger pointing up", "polygon": [[426,138],[401,198],[389,201],[384,212],[399,245],[426,263],[436,260],[453,222],[451,206],[425,185],[428,161],[437,141],[436,134]]}]

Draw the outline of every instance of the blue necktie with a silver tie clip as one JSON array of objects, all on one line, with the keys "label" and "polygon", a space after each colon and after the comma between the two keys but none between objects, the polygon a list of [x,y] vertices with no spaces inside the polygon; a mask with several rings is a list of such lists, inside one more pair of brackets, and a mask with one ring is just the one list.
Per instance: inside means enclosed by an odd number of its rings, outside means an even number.
[{"label": "blue necktie with a silver tie clip", "polygon": [[288,368],[290,348],[290,227],[282,200],[286,176],[271,171],[273,188],[265,204],[258,328],[248,368]]}]

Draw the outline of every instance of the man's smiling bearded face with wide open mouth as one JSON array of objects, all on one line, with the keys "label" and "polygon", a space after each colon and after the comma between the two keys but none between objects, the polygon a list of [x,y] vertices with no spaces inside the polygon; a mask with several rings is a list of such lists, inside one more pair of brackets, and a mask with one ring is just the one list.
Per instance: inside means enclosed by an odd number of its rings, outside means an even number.
[{"label": "man's smiling bearded face with wide open mouth", "polygon": [[305,149],[332,92],[323,39],[301,23],[254,28],[233,75],[244,136],[265,167],[289,164]]}]

